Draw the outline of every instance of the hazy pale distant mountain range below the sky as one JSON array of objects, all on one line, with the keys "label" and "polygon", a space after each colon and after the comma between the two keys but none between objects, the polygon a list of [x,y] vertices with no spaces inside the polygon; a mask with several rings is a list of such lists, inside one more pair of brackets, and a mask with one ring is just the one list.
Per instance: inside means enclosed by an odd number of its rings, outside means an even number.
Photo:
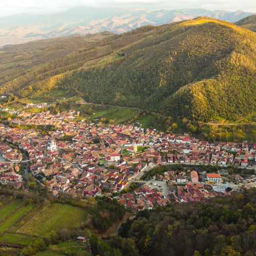
[{"label": "hazy pale distant mountain range below the sky", "polygon": [[253,13],[204,9],[146,10],[79,7],[55,14],[15,14],[0,17],[0,47],[74,34],[110,31],[121,34],[145,25],[163,25],[198,16],[234,23]]}]

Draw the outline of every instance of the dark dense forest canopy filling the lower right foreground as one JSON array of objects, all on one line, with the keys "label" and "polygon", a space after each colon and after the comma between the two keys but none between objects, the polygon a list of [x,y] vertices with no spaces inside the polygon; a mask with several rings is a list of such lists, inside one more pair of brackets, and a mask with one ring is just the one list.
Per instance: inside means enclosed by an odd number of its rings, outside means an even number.
[{"label": "dark dense forest canopy filling the lower right foreground", "polygon": [[256,190],[206,203],[143,210],[121,225],[119,236],[103,241],[92,236],[90,243],[94,255],[252,256],[256,250]]}]

